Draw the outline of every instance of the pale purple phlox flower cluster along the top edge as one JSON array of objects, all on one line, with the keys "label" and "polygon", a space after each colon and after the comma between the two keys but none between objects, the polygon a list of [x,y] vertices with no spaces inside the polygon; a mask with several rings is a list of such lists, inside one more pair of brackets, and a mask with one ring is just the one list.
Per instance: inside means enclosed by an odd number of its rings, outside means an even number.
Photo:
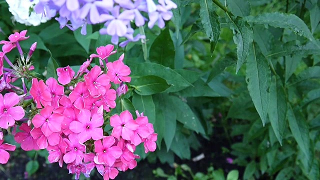
[{"label": "pale purple phlox flower cluster along the top edge", "polygon": [[[129,41],[137,41],[145,38],[144,35],[133,36],[131,23],[142,26],[147,25],[152,28],[157,22],[163,28],[164,20],[172,17],[172,8],[176,4],[171,0],[39,0],[35,4],[34,10],[37,13],[53,17],[60,23],[60,28],[67,26],[71,30],[81,27],[81,33],[86,34],[86,24],[104,23],[99,30],[100,34],[111,35],[111,42],[117,44],[119,37],[126,37],[127,40],[120,43],[125,46]],[[56,13],[52,12],[52,9]],[[148,14],[148,18],[141,14]]]}]

